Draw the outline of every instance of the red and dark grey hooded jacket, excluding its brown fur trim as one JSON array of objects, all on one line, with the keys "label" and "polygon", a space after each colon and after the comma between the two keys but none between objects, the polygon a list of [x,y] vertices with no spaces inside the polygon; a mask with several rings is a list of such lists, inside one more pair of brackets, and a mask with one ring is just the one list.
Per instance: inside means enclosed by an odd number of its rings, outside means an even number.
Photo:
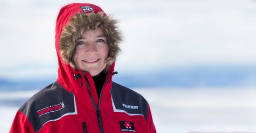
[{"label": "red and dark grey hooded jacket, excluding its brown fur trim", "polygon": [[33,95],[17,111],[10,133],[156,133],[149,104],[138,93],[112,82],[114,62],[97,95],[89,72],[62,60],[59,38],[70,17],[78,12],[102,11],[92,4],[62,7],[56,24],[59,62],[55,83]]}]

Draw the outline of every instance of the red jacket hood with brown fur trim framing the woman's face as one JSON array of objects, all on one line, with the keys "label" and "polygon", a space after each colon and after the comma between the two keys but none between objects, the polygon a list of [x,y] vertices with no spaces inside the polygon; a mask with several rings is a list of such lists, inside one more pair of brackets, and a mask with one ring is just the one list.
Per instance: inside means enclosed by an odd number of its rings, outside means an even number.
[{"label": "red jacket hood with brown fur trim framing the woman's face", "polygon": [[[114,20],[104,11],[92,4],[73,3],[62,7],[56,22],[55,47],[57,50],[59,69],[58,81],[68,84],[73,75],[79,73],[73,55],[76,52],[76,41],[85,30],[102,28],[109,45],[106,73],[114,71],[114,62],[120,52],[119,43],[122,41],[121,33]],[[111,68],[111,70],[109,69]],[[80,71],[81,73],[81,71]]]}]

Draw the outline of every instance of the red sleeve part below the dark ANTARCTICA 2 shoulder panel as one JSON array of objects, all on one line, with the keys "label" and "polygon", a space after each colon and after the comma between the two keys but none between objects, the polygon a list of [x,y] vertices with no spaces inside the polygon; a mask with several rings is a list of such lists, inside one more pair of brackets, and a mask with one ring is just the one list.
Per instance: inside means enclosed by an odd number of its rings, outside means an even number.
[{"label": "red sleeve part below the dark ANTARCTICA 2 shoulder panel", "polygon": [[9,133],[35,133],[35,131],[26,115],[18,111],[14,117]]}]

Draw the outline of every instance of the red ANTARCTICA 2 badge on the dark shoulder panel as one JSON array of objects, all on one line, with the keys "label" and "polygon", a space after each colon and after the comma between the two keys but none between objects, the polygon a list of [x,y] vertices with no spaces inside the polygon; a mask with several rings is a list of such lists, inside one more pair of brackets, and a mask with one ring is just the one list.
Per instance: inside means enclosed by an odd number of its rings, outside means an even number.
[{"label": "red ANTARCTICA 2 badge on the dark shoulder panel", "polygon": [[59,110],[61,110],[63,108],[65,108],[65,105],[62,102],[62,103],[59,103],[57,105],[50,105],[50,106],[48,106],[46,108],[38,110],[37,112],[38,112],[38,116],[40,117],[40,116],[48,114],[50,112],[59,111]]}]

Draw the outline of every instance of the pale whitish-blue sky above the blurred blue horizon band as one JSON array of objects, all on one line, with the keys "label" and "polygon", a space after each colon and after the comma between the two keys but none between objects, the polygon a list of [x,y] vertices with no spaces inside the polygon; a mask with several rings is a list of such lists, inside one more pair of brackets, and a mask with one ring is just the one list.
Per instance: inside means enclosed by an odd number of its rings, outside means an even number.
[{"label": "pale whitish-blue sky above the blurred blue horizon band", "polygon": [[70,2],[98,5],[120,21],[119,71],[256,64],[255,0],[2,0],[0,77],[57,72],[55,20]]}]

